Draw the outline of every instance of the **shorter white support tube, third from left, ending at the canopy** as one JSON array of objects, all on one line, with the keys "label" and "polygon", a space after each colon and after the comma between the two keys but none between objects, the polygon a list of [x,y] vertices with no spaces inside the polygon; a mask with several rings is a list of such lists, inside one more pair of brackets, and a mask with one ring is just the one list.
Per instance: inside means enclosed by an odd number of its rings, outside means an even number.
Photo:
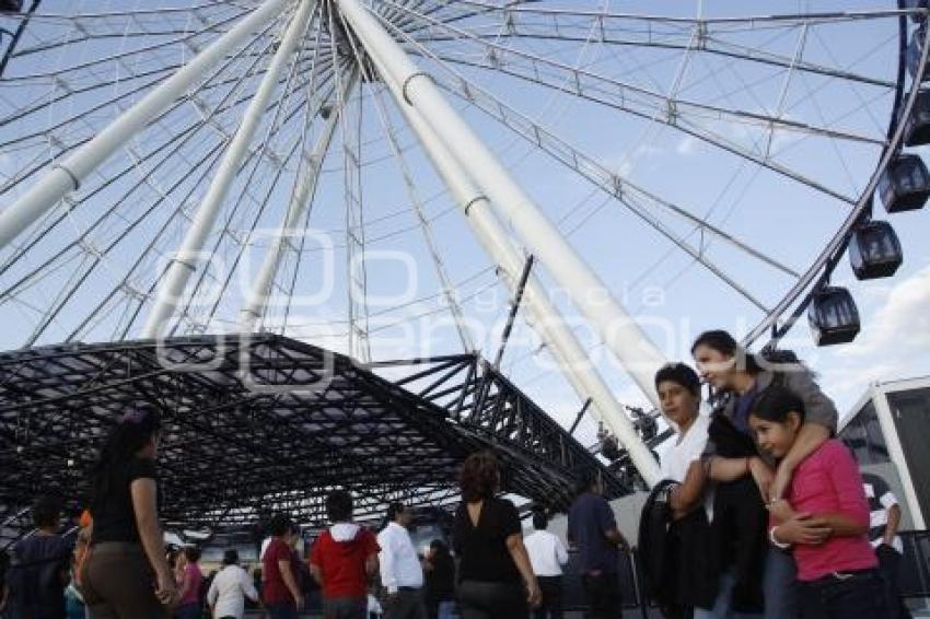
[{"label": "shorter white support tube, third from left, ending at the canopy", "polygon": [[[358,81],[358,70],[353,70],[344,85],[344,93],[338,95],[337,101],[344,101],[349,96],[349,93],[354,87]],[[241,332],[251,332],[255,329],[255,325],[261,314],[265,313],[265,307],[268,304],[269,291],[271,282],[275,279],[275,273],[281,264],[284,244],[288,243],[294,234],[301,234],[301,221],[310,205],[309,200],[316,191],[316,184],[319,180],[319,170],[323,167],[323,160],[326,152],[329,150],[329,144],[333,141],[333,135],[336,132],[336,127],[339,125],[339,113],[333,110],[329,118],[326,119],[322,132],[319,133],[313,152],[303,159],[301,168],[298,172],[298,180],[294,186],[294,191],[291,194],[288,210],[284,213],[284,219],[277,234],[271,240],[271,246],[265,253],[265,258],[261,261],[261,267],[258,270],[258,276],[252,282],[252,289],[248,296],[240,311],[239,326]]]}]

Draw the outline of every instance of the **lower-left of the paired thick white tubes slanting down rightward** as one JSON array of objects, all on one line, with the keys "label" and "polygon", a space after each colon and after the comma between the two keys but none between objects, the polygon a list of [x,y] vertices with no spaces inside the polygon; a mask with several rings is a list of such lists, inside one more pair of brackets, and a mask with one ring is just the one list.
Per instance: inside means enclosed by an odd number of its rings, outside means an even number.
[{"label": "lower-left of the paired thick white tubes slanting down rightward", "polygon": [[[399,94],[399,86],[391,80],[387,81],[392,90]],[[403,103],[399,107],[440,176],[449,186],[453,199],[464,211],[468,224],[485,252],[504,271],[507,275],[504,281],[511,291],[515,292],[524,260],[491,211],[488,199],[475,187],[467,173],[462,170],[419,113]],[[574,332],[553,305],[543,285],[532,275],[526,280],[526,288],[523,291],[523,305],[530,314],[531,325],[559,362],[559,366],[576,393],[582,401],[589,397],[592,399],[595,419],[603,421],[614,435],[620,437],[646,482],[650,487],[658,483],[661,474],[655,458],[642,441],[638,440],[638,434],[623,407],[591,363]]]}]

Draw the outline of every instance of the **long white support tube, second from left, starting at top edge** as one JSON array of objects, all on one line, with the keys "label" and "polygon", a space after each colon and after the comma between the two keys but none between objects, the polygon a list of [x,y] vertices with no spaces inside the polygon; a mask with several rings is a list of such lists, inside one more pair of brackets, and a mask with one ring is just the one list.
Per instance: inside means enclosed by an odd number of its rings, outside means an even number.
[{"label": "long white support tube, second from left, starting at top edge", "polygon": [[204,243],[213,227],[220,207],[239,173],[242,161],[248,153],[248,144],[258,129],[271,95],[275,94],[281,72],[303,39],[310,16],[315,8],[315,0],[304,0],[298,4],[281,44],[275,52],[268,70],[261,78],[261,83],[255,96],[252,97],[248,108],[242,116],[242,124],[223,154],[223,160],[217,168],[217,174],[210,183],[210,188],[207,190],[204,201],[197,209],[190,229],[188,229],[181,247],[172,258],[164,279],[159,284],[152,310],[142,329],[143,338],[154,338],[163,332],[177,307],[184,289],[187,287],[187,281],[197,270],[198,256]]}]

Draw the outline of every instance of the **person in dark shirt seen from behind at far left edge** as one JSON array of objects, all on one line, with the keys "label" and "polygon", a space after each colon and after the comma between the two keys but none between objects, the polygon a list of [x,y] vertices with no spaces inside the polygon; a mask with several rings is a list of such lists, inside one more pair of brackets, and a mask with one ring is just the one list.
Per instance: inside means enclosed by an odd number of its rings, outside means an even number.
[{"label": "person in dark shirt seen from behind at far left edge", "polygon": [[58,535],[61,502],[40,497],[32,507],[35,530],[13,546],[7,581],[9,619],[65,619],[71,545]]}]

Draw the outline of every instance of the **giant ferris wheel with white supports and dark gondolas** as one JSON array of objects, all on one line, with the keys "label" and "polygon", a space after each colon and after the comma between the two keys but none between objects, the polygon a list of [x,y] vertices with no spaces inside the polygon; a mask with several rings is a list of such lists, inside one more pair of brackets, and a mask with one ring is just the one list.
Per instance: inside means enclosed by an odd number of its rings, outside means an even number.
[{"label": "giant ferris wheel with white supports and dark gondolas", "polygon": [[905,152],[930,141],[922,2],[0,8],[8,349],[272,331],[362,362],[476,350],[489,295],[520,291],[603,412],[590,351],[648,386],[682,315],[740,315],[765,343],[807,312],[818,343],[849,341],[830,277],[847,254],[860,279],[894,273],[879,205],[930,194]]}]

